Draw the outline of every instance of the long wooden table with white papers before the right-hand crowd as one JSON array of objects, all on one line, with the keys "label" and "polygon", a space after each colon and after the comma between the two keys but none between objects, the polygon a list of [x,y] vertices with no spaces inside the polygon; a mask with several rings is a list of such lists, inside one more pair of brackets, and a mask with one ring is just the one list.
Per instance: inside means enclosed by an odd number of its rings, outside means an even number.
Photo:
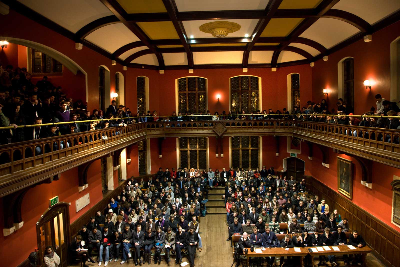
[{"label": "long wooden table with white papers before the right-hand crowd", "polygon": [[[325,246],[318,246],[318,247],[325,247]],[[372,249],[368,246],[365,247],[356,247],[356,249],[350,249],[347,245],[343,246],[334,246],[338,247],[340,251],[334,251],[332,246],[327,246],[331,250],[326,251],[317,251],[317,252],[309,252],[308,249],[312,247],[299,247],[300,252],[294,251],[294,248],[291,247],[288,250],[284,249],[283,247],[270,247],[264,248],[262,253],[256,253],[255,249],[253,252],[248,249],[248,253],[244,254],[247,258],[247,266],[249,266],[250,257],[300,257],[300,265],[304,267],[304,257],[309,255],[311,257],[311,263],[314,267],[314,261],[312,260],[314,256],[327,256],[327,255],[349,255],[349,254],[361,254],[362,261],[364,266],[366,266],[366,257],[367,254],[372,251]],[[316,248],[316,247],[315,247]],[[262,248],[260,248],[262,249]]]}]

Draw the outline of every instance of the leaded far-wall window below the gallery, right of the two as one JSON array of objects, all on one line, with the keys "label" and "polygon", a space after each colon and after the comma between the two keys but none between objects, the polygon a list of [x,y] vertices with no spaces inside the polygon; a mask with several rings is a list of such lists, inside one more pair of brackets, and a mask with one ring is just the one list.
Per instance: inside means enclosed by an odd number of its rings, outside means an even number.
[{"label": "leaded far-wall window below the gallery, right of the two", "polygon": [[231,138],[232,167],[257,168],[259,159],[258,136],[234,136]]}]

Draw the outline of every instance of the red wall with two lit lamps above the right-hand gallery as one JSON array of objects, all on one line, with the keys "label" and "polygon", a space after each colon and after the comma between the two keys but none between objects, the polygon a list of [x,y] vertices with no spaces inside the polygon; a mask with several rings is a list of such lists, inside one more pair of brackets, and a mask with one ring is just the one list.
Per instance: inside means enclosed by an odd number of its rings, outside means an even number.
[{"label": "red wall with two lit lamps above the right-hand gallery", "polygon": [[[323,88],[329,90],[329,109],[336,109],[338,100],[338,62],[345,57],[354,58],[354,111],[362,114],[371,106],[376,108],[375,94],[390,100],[390,43],[400,35],[400,22],[396,22],[374,34],[371,42],[360,40],[329,55],[328,61],[318,60],[312,68],[312,97],[320,101]],[[372,81],[372,89],[366,89],[364,80]]]}]

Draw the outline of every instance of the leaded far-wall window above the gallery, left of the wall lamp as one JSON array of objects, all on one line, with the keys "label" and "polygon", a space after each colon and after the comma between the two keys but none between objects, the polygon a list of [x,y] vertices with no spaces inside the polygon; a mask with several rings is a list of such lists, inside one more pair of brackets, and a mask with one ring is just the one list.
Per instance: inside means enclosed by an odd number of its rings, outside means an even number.
[{"label": "leaded far-wall window above the gallery, left of the wall lamp", "polygon": [[206,112],[207,84],[205,78],[186,77],[178,80],[178,111]]}]

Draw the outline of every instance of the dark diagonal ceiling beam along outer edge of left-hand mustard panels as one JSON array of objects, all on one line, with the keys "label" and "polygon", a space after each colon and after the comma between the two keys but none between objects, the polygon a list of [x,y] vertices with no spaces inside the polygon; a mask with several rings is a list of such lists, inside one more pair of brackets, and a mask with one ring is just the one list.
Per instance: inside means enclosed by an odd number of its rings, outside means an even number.
[{"label": "dark diagonal ceiling beam along outer edge of left-hand mustard panels", "polygon": [[104,6],[106,6],[106,8],[108,8],[108,10],[110,10],[112,14],[114,14],[114,16],[116,16],[122,23],[124,23],[124,25],[133,34],[136,35],[136,37],[138,37],[146,46],[148,46],[148,48],[154,54],[156,54],[158,60],[158,66],[160,67],[160,69],[163,69],[165,66],[164,58],[162,58],[162,55],[158,51],[158,48],[150,44],[148,36],[142,31],[142,29],[136,23],[129,22],[129,20],[126,19],[128,17],[128,14],[124,10],[124,8],[120,6],[117,0],[100,0],[100,2],[102,2]]}]

